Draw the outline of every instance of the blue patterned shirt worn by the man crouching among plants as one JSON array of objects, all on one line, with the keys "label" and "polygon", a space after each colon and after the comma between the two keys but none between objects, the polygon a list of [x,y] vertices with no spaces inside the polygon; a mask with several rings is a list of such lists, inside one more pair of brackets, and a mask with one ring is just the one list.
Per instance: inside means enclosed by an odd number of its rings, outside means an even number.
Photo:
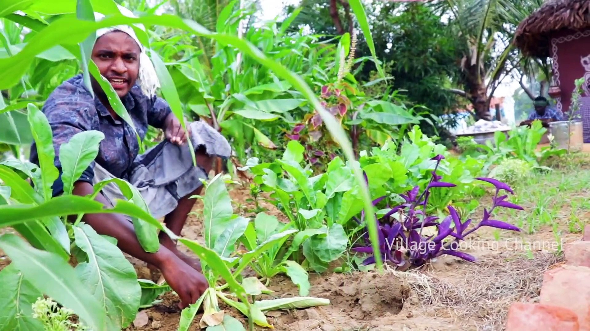
[{"label": "blue patterned shirt worn by the man crouching among plants", "polygon": [[[148,125],[163,128],[165,118],[172,112],[166,101],[159,97],[146,97],[137,84],[121,98],[121,101],[142,140],[148,131]],[[98,97],[92,97],[84,85],[81,74],[55,88],[41,111],[47,117],[53,131],[55,166],[60,170],[60,178],[54,184],[54,194],[63,190],[60,146],[82,131],[97,130],[104,134],[99,154],[94,161],[113,176],[126,179],[127,170],[139,153],[136,135],[129,124],[115,120]],[[39,164],[35,143],[31,146],[30,160]],[[93,167],[94,162],[90,164],[89,170],[81,180],[91,183],[94,176]]]}]

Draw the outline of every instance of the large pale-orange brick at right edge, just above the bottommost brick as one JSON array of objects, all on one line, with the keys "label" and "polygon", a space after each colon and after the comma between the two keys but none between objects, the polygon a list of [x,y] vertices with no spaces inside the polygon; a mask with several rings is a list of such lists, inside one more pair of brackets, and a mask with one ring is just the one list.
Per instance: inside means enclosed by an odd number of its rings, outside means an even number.
[{"label": "large pale-orange brick at right edge, just above the bottommost brick", "polygon": [[572,310],[581,331],[590,331],[589,267],[563,265],[545,272],[540,303]]}]

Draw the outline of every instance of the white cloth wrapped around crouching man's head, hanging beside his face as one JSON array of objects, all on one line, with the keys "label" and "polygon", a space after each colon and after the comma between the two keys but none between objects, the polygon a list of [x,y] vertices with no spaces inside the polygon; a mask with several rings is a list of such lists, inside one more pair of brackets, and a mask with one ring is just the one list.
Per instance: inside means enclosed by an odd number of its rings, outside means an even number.
[{"label": "white cloth wrapped around crouching man's head, hanging beside his face", "polygon": [[[117,6],[119,7],[119,11],[121,12],[121,14],[132,18],[137,17],[133,15],[133,13],[129,9],[124,8],[120,5]],[[94,13],[94,19],[96,19],[96,21],[100,21],[101,19],[104,19],[104,17],[105,16],[103,14],[100,14],[98,12]],[[143,31],[145,31],[145,27],[143,27],[142,24],[134,25],[137,28],[140,28]],[[132,27],[130,27],[129,25],[116,25],[114,27],[101,28],[96,31],[96,39],[98,39],[104,34],[107,34],[115,30],[125,32],[131,38],[133,38],[135,42],[137,42],[137,45],[139,45],[139,49],[141,52],[139,55],[139,75],[137,76],[137,85],[139,85],[143,94],[145,94],[146,96],[152,97],[153,95],[156,95],[156,90],[160,87],[160,81],[158,80],[156,69],[153,67],[152,61],[148,57],[148,54],[146,54],[145,47],[143,47],[142,43],[139,42],[139,39],[137,38],[137,35],[135,34],[135,31],[133,31]]]}]

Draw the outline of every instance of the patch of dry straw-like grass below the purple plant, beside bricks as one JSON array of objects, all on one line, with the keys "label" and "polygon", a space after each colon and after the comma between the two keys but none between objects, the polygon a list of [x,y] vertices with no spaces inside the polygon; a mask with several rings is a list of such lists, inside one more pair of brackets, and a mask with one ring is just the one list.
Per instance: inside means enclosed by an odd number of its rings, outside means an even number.
[{"label": "patch of dry straw-like grass below the purple plant, beside bricks", "polygon": [[503,330],[510,304],[536,302],[543,273],[561,260],[550,252],[536,253],[534,259],[494,256],[444,281],[428,271],[391,272],[408,282],[428,315],[451,313],[457,320],[477,320],[478,330]]}]

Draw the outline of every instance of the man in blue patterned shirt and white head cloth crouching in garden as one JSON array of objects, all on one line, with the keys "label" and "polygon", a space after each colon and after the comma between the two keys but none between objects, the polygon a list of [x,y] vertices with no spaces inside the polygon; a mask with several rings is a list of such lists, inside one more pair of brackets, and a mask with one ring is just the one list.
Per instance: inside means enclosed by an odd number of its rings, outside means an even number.
[{"label": "man in blue patterned shirt and white head cloth crouching in garden", "polygon": [[[63,193],[60,145],[81,131],[101,131],[104,140],[99,153],[74,184],[73,193],[88,196],[93,194],[94,184],[113,177],[122,178],[142,193],[152,215],[165,217],[166,226],[179,235],[195,203],[189,197],[199,194],[200,179],[207,178],[214,158],[230,156],[230,145],[204,121],[189,124],[188,133],[182,129],[166,101],[156,96],[159,82],[155,69],[132,28],[121,26],[97,31],[91,59],[119,95],[137,134],[143,139],[148,125],[152,125],[165,132],[166,140],[138,155],[139,144],[133,128],[116,114],[98,82],[92,80],[96,94],[93,97],[82,75],[70,78],[55,89],[42,109],[53,131],[55,166],[60,170],[53,195]],[[198,167],[192,163],[188,139],[196,148]],[[31,162],[39,164],[35,144],[31,148]],[[114,186],[107,186],[96,200],[113,206],[117,198],[124,199]],[[159,250],[148,253],[140,245],[129,217],[86,214],[83,221],[97,233],[117,239],[117,246],[125,253],[157,267],[178,293],[181,308],[195,303],[207,289],[198,260],[176,249],[176,243],[165,233],[160,233]]]}]

